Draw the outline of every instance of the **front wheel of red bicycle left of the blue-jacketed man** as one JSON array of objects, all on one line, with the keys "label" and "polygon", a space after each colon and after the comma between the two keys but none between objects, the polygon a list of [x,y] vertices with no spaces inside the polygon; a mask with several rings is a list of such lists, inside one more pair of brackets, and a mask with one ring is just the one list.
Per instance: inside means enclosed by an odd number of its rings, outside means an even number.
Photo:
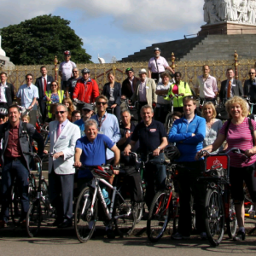
[{"label": "front wheel of red bicycle left of the blue-jacketed man", "polygon": [[166,194],[166,191],[159,191],[154,195],[147,221],[147,234],[149,241],[159,241],[164,235],[169,222],[170,211],[169,208],[167,208],[169,196],[170,195]]}]

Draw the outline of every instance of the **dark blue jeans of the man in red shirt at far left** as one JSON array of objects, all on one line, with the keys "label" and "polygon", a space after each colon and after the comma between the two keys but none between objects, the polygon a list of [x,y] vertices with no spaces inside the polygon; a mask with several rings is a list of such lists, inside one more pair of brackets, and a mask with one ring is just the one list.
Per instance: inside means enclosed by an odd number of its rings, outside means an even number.
[{"label": "dark blue jeans of the man in red shirt at far left", "polygon": [[16,177],[16,186],[20,195],[21,218],[26,218],[29,209],[28,179],[29,171],[26,169],[26,161],[20,159],[10,160],[5,158],[2,170],[2,212],[1,217],[7,223],[9,220],[9,204],[11,201],[11,187]]}]

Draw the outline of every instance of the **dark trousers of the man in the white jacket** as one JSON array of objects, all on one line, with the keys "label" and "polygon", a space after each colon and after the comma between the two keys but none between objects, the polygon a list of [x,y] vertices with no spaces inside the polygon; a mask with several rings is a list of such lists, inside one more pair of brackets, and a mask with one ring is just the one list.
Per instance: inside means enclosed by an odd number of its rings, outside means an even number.
[{"label": "dark trousers of the man in the white jacket", "polygon": [[49,200],[61,221],[73,217],[73,181],[74,174],[49,173]]}]

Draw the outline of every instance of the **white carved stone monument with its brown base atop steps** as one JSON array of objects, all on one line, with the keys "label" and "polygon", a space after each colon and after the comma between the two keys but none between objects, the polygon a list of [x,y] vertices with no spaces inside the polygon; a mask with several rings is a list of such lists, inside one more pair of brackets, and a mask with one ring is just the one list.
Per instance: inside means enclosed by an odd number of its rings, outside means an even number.
[{"label": "white carved stone monument with its brown base atop steps", "polygon": [[256,0],[205,0],[200,36],[256,34]]}]

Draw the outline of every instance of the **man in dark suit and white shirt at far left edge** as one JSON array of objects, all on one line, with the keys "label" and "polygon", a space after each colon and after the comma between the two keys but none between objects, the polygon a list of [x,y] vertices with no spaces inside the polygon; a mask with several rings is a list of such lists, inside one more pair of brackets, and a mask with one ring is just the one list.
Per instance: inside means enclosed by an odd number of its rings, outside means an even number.
[{"label": "man in dark suit and white shirt at far left edge", "polygon": [[14,101],[14,85],[6,82],[7,73],[0,73],[0,108],[8,108]]}]

